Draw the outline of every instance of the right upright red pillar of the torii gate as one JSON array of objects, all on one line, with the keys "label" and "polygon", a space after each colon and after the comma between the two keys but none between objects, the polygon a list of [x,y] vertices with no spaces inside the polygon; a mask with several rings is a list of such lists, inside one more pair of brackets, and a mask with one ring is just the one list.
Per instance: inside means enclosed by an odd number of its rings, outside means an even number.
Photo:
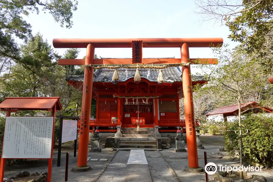
[{"label": "right upright red pillar of the torii gate", "polygon": [[[189,62],[189,46],[183,43],[181,46],[181,63]],[[186,136],[188,148],[188,163],[190,168],[198,168],[197,144],[194,121],[194,107],[192,96],[192,83],[190,76],[190,66],[184,66],[182,73],[182,86],[184,93]]]}]

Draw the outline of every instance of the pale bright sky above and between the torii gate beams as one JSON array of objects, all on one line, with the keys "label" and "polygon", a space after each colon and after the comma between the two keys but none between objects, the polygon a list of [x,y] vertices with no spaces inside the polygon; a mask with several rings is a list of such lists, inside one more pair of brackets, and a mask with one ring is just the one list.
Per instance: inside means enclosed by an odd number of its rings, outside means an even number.
[{"label": "pale bright sky above and between the torii gate beams", "polygon": [[[54,38],[184,38],[222,37],[227,39],[226,26],[214,22],[199,22],[201,15],[194,14],[192,0],[78,0],[73,13],[73,27],[62,28],[48,13],[30,14],[26,18],[33,34],[42,33],[52,44]],[[57,49],[63,54],[66,49]],[[101,57],[130,58],[130,48],[100,48],[95,53]],[[79,58],[85,56],[81,49]],[[144,48],[143,57],[180,58],[179,48]],[[190,58],[213,58],[209,48],[190,48]],[[194,70],[192,70],[194,72]]]}]

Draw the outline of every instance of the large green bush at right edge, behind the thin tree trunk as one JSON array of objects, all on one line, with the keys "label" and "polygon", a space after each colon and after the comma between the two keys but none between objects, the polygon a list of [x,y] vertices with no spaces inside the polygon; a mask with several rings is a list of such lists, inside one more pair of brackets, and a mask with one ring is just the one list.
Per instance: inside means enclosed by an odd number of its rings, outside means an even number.
[{"label": "large green bush at right edge, behind the thin tree trunk", "polygon": [[[247,114],[242,119],[243,133],[243,158],[252,159],[265,167],[273,167],[273,118],[266,117],[262,114]],[[225,132],[225,147],[231,153],[239,152],[238,120],[228,123]]]}]

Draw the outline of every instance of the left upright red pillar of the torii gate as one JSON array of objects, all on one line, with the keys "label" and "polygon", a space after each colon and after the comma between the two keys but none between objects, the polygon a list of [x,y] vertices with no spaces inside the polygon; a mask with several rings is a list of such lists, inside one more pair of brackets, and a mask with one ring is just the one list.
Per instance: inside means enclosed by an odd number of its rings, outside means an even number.
[{"label": "left upright red pillar of the torii gate", "polygon": [[[93,64],[94,50],[95,48],[93,45],[91,44],[87,45],[85,65]],[[93,87],[93,68],[86,67],[84,69],[83,103],[82,103],[82,111],[81,111],[81,124],[84,123],[84,126],[82,125],[80,126],[77,167],[87,166],[92,87]]]}]

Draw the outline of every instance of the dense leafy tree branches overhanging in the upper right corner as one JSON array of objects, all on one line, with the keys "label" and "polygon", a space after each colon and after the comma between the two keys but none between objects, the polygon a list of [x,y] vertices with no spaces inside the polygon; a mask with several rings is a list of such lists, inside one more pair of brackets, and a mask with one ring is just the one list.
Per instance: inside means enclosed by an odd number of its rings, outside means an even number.
[{"label": "dense leafy tree branches overhanging in the upper right corner", "polygon": [[[226,16],[226,25],[231,34],[229,38],[241,42],[249,53],[257,56],[267,72],[273,70],[272,28],[273,8],[272,0],[248,1],[243,0],[243,10],[235,18]],[[271,42],[271,43],[270,43]]]}]

